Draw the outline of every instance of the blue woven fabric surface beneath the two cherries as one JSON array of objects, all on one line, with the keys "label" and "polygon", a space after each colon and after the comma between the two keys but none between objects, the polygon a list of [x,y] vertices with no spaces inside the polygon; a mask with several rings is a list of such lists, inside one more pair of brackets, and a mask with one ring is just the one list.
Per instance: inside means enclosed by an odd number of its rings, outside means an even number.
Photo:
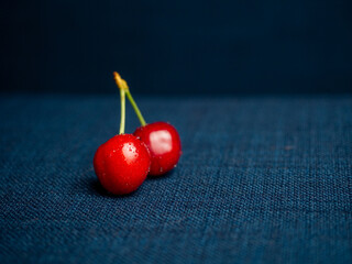
[{"label": "blue woven fabric surface beneath the two cherries", "polygon": [[183,156],[113,197],[117,97],[1,97],[0,263],[352,263],[351,97],[135,99]]}]

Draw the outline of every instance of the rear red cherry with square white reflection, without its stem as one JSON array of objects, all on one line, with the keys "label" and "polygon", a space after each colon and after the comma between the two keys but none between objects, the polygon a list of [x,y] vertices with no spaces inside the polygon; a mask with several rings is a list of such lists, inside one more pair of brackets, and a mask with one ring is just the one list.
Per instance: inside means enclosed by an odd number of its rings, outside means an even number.
[{"label": "rear red cherry with square white reflection, without its stem", "polygon": [[155,122],[138,128],[134,133],[150,150],[152,164],[150,175],[158,176],[173,169],[180,155],[180,139],[169,123]]}]

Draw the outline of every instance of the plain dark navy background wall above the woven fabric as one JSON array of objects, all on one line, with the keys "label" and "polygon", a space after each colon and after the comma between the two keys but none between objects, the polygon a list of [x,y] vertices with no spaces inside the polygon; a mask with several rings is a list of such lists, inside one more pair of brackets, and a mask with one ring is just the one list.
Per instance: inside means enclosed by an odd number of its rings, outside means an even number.
[{"label": "plain dark navy background wall above the woven fabric", "polygon": [[1,89],[315,94],[352,87],[352,2],[6,1]]}]

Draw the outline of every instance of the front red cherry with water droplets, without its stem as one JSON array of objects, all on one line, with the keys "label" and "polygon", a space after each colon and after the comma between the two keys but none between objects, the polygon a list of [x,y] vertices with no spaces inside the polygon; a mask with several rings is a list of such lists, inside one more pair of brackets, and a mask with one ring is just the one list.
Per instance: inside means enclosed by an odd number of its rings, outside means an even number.
[{"label": "front red cherry with water droplets, without its stem", "polygon": [[94,166],[103,188],[114,195],[127,195],[136,190],[145,180],[151,156],[138,138],[121,134],[98,147]]}]

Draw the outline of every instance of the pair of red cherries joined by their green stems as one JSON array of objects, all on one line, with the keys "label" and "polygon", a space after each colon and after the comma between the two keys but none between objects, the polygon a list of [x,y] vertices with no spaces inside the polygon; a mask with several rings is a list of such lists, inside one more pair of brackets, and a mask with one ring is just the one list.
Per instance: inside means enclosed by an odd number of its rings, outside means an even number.
[{"label": "pair of red cherries joined by their green stems", "polygon": [[[182,147],[179,135],[169,123],[146,124],[127,81],[118,73],[113,75],[120,89],[120,133],[98,147],[94,167],[99,182],[108,191],[127,195],[136,190],[147,174],[160,176],[173,169]],[[125,96],[142,124],[133,134],[124,134]]]}]

